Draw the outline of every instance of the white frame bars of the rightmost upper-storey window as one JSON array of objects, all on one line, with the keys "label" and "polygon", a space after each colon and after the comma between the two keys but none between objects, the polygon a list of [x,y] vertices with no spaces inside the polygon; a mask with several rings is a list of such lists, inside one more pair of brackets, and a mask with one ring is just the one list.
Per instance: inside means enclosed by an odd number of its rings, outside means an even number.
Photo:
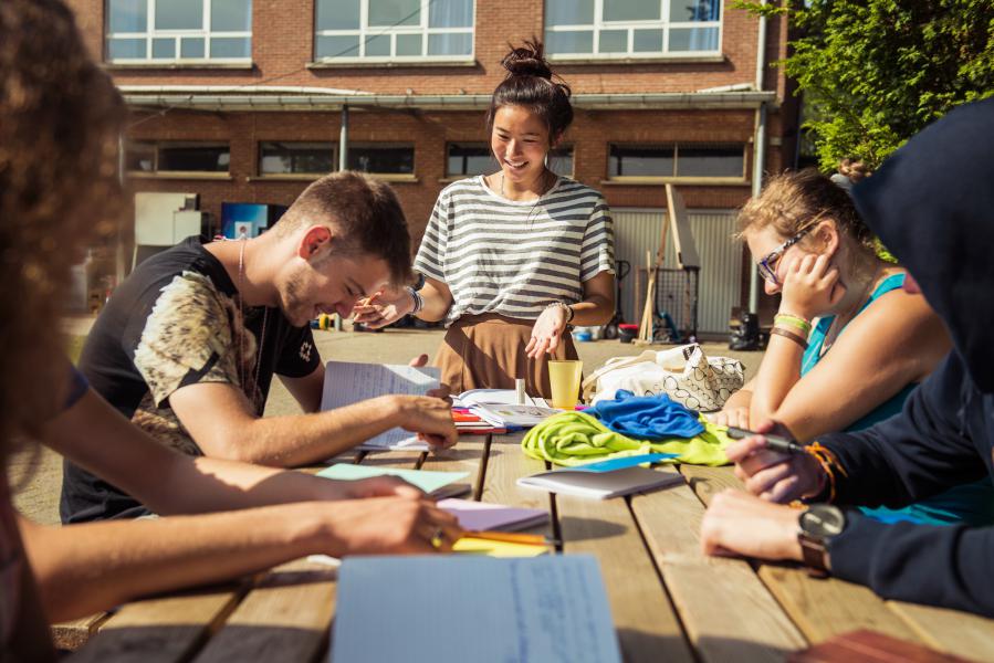
[{"label": "white frame bars of the rightmost upper-storey window", "polygon": [[[568,0],[544,0],[543,17],[548,15],[547,4],[555,1]],[[593,50],[590,52],[558,53],[553,51],[546,52],[550,61],[569,61],[569,60],[699,60],[701,57],[718,57],[722,55],[722,43],[724,39],[724,3],[720,3],[721,14],[718,21],[670,21],[670,6],[678,0],[659,0],[660,18],[659,20],[632,20],[632,21],[605,21],[604,20],[604,0],[594,1],[594,22],[593,23],[572,23],[562,25],[550,25],[547,21],[543,21],[543,32],[545,43],[550,42],[550,32],[577,32],[592,31]],[[687,28],[718,28],[718,46],[712,51],[670,51],[670,30]],[[626,30],[627,49],[625,52],[599,53],[600,33],[603,31]],[[635,51],[635,30],[662,30],[662,50],[660,51]]]}]

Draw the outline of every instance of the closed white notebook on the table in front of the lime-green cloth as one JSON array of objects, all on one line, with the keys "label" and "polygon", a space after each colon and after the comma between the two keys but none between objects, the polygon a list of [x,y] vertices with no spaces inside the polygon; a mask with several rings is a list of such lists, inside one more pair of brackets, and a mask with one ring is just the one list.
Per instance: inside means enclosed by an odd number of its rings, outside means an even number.
[{"label": "closed white notebook on the table in front of the lime-green cloth", "polygon": [[532,476],[522,476],[517,480],[517,485],[529,488],[598,499],[619,497],[630,493],[647,493],[682,483],[683,476],[680,474],[637,466],[610,472],[590,472],[584,469],[553,470]]}]

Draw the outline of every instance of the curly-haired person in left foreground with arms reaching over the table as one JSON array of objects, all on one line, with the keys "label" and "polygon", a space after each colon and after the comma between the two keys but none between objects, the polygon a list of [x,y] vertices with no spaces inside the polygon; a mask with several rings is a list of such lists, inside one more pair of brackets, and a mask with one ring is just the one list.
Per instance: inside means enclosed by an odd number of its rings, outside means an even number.
[{"label": "curly-haired person in left foreground with arms reaching over the table", "polygon": [[[3,661],[54,661],[49,620],[312,552],[432,552],[457,534],[452,516],[402,482],[346,487],[179,454],[132,425],[72,369],[51,320],[61,314],[70,265],[113,232],[124,209],[117,179],[124,117],[121,96],[87,56],[64,4],[0,2]],[[14,444],[32,440],[106,473],[159,513],[241,511],[35,525],[15,513],[6,472]],[[345,499],[359,496],[369,498]],[[283,502],[294,503],[260,506]]]}]

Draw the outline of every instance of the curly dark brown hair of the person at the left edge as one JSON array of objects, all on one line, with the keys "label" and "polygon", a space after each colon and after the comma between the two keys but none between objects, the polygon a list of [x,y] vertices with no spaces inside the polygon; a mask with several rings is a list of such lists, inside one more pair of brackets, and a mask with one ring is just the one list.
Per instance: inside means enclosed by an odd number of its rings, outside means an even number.
[{"label": "curly dark brown hair of the person at the left edge", "polygon": [[62,2],[0,1],[0,454],[62,404],[70,267],[117,229],[125,116]]}]

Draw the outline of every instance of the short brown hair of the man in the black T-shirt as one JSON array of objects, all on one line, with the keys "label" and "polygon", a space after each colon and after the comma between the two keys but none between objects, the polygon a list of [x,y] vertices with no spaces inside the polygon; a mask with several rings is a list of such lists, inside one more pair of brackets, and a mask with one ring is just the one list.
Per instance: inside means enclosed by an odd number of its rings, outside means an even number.
[{"label": "short brown hair of the man in the black T-shirt", "polygon": [[414,280],[407,219],[389,185],[352,170],[326,175],[304,189],[275,228],[287,233],[314,222],[341,230],[343,251],[383,259],[394,284]]}]

